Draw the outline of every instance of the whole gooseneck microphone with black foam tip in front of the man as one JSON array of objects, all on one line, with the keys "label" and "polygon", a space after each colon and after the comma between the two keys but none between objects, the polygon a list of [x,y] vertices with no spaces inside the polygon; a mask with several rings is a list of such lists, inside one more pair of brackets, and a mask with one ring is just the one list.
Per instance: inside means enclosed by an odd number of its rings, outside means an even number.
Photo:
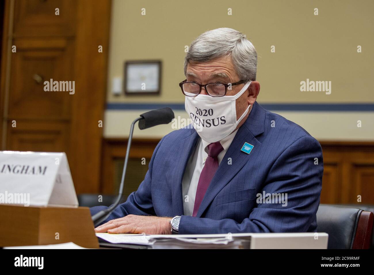
[{"label": "whole gooseneck microphone with black foam tip in front of the man", "polygon": [[130,152],[131,141],[132,141],[132,133],[134,132],[135,123],[139,121],[139,125],[138,125],[139,129],[142,130],[142,129],[147,129],[147,128],[150,128],[150,127],[153,127],[159,124],[168,124],[169,122],[171,122],[172,119],[174,119],[174,112],[169,107],[165,107],[165,108],[148,111],[144,114],[141,114],[140,117],[137,117],[131,123],[129,140],[128,140],[127,148],[126,148],[125,164],[123,164],[122,178],[121,178],[121,183],[119,186],[118,197],[116,199],[116,202],[112,204],[110,207],[105,208],[104,210],[101,210],[92,216],[94,227],[97,227],[100,223],[102,223],[102,221],[108,219],[110,214],[114,211],[114,209],[119,205],[121,201],[122,193],[123,193],[123,183],[125,181],[127,162],[129,159],[129,152]]}]

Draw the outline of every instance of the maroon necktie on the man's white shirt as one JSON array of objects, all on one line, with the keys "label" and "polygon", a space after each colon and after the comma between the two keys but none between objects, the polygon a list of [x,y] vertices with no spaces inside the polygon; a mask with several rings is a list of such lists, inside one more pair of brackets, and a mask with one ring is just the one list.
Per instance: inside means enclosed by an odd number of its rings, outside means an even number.
[{"label": "maroon necktie on the man's white shirt", "polygon": [[215,172],[218,169],[218,158],[217,156],[222,152],[223,147],[219,141],[208,145],[208,157],[205,160],[204,167],[201,171],[199,183],[197,184],[195,204],[193,207],[192,216],[196,217],[197,211],[199,210],[200,204],[203,201],[206,190],[214,177]]}]

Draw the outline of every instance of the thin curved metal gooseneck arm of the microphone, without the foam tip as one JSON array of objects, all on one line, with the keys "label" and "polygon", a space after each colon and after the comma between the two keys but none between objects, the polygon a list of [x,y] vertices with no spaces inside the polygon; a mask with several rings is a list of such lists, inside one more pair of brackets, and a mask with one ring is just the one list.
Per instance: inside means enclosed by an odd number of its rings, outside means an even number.
[{"label": "thin curved metal gooseneck arm of the microphone, without the foam tip", "polygon": [[110,207],[105,208],[104,210],[101,210],[101,211],[99,211],[98,213],[96,213],[95,215],[92,216],[93,225],[95,227],[98,226],[100,223],[102,223],[102,221],[108,219],[110,214],[113,212],[114,208],[116,208],[121,201],[122,194],[123,194],[123,185],[124,185],[123,183],[125,182],[127,162],[128,162],[128,159],[129,159],[129,152],[130,152],[131,141],[132,141],[132,133],[134,132],[135,123],[138,120],[141,120],[142,118],[143,117],[138,117],[137,119],[135,119],[131,123],[129,140],[127,142],[127,148],[126,148],[125,164],[123,165],[122,178],[121,178],[121,183],[120,183],[120,186],[119,186],[119,193],[118,193],[117,200]]}]

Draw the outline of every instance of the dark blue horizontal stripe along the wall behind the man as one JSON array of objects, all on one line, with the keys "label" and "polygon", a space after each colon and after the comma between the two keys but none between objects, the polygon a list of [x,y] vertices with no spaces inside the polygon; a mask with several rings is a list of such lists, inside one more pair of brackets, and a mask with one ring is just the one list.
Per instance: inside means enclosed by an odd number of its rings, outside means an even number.
[{"label": "dark blue horizontal stripe along the wall behind the man", "polygon": [[[261,104],[261,103],[260,103]],[[371,104],[261,104],[269,111],[374,111]],[[184,110],[184,103],[107,103],[107,110],[154,110],[170,107],[173,110]]]}]

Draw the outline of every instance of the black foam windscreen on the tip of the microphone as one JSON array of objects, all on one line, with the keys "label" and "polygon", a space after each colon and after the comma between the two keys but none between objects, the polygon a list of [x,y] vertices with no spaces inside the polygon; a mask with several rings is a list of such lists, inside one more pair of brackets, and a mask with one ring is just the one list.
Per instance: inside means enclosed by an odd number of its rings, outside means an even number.
[{"label": "black foam windscreen on the tip of the microphone", "polygon": [[152,110],[140,115],[139,129],[147,129],[159,124],[168,124],[174,118],[174,112],[169,108]]}]

